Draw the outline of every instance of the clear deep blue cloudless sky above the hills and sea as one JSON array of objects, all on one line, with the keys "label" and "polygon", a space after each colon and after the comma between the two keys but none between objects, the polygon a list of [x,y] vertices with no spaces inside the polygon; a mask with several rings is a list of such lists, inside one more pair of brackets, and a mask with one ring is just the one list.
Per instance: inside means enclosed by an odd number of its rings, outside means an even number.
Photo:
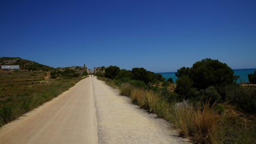
[{"label": "clear deep blue cloudless sky above the hills and sea", "polygon": [[0,57],[173,72],[256,68],[256,0],[1,0]]}]

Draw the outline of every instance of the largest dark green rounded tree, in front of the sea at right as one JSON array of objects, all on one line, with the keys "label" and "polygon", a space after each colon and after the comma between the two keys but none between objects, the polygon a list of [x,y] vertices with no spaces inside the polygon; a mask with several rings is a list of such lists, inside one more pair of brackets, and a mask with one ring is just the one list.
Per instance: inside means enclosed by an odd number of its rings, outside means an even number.
[{"label": "largest dark green rounded tree, in front of the sea at right", "polygon": [[193,87],[206,89],[209,86],[225,86],[234,82],[234,71],[227,64],[210,58],[197,61],[191,68],[182,67],[176,76],[188,75],[194,82]]}]

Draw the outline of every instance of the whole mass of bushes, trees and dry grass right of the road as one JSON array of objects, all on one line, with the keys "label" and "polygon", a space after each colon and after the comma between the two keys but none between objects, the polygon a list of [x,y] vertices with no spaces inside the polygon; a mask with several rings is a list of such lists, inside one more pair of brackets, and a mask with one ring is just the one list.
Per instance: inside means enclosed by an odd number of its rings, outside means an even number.
[{"label": "whole mass of bushes, trees and dry grass right of the road", "polygon": [[99,75],[194,143],[255,144],[256,87],[237,84],[233,70],[218,60],[207,58],[177,70],[174,90],[171,79],[144,68],[110,66]]}]

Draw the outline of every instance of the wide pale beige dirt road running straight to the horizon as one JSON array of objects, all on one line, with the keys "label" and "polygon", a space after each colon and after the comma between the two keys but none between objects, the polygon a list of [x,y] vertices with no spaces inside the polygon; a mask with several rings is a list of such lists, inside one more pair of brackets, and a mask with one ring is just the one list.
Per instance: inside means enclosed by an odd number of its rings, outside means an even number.
[{"label": "wide pale beige dirt road running straight to the horizon", "polygon": [[81,80],[0,130],[0,144],[186,144],[96,77]]}]

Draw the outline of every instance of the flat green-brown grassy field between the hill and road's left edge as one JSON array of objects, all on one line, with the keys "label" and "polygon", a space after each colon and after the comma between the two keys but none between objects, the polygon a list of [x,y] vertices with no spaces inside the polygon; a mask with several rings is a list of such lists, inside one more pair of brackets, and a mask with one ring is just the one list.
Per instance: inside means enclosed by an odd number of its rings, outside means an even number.
[{"label": "flat green-brown grassy field between the hill and road's left edge", "polygon": [[45,71],[0,72],[0,126],[74,86],[81,77],[47,79]]}]

